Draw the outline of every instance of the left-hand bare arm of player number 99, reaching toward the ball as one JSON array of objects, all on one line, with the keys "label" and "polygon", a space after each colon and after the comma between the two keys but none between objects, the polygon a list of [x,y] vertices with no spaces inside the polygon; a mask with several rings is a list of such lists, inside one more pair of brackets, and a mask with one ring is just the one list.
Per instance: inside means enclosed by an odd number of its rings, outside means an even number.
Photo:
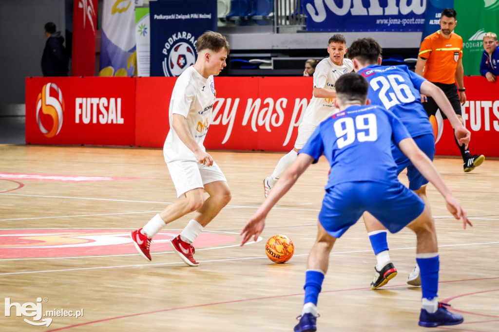
[{"label": "left-hand bare arm of player number 99, reaching toward the ball", "polygon": [[254,237],[254,241],[258,239],[258,236],[265,227],[265,218],[267,217],[270,209],[293,186],[298,177],[305,171],[305,169],[307,169],[308,166],[310,166],[310,164],[312,164],[312,162],[313,158],[309,155],[298,155],[298,158],[296,158],[291,167],[289,167],[277,183],[274,184],[272,190],[268,194],[268,197],[263,201],[258,210],[256,210],[250,220],[248,220],[246,225],[243,227],[240,234],[243,235],[241,245],[248,242],[251,236]]}]

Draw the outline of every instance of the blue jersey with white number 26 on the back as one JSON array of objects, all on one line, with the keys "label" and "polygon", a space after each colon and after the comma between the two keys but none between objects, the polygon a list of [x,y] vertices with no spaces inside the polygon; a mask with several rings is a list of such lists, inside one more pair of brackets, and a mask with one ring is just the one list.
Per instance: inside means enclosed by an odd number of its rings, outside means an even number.
[{"label": "blue jersey with white number 26 on the back", "polygon": [[359,71],[369,82],[367,98],[400,118],[411,137],[433,135],[433,127],[421,104],[421,84],[426,81],[406,65],[370,65]]}]

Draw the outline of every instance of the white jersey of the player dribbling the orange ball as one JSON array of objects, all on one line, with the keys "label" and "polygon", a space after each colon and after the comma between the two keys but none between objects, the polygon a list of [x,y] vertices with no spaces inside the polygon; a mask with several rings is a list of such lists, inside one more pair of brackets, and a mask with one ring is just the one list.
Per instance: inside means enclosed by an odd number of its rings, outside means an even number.
[{"label": "white jersey of the player dribbling the orange ball", "polygon": [[194,66],[191,66],[177,78],[170,100],[170,131],[163,146],[165,162],[198,161],[194,153],[180,140],[173,129],[173,115],[180,114],[186,118],[187,128],[194,141],[203,151],[206,151],[203,142],[212,119],[214,102],[213,76],[204,78],[194,69]]}]

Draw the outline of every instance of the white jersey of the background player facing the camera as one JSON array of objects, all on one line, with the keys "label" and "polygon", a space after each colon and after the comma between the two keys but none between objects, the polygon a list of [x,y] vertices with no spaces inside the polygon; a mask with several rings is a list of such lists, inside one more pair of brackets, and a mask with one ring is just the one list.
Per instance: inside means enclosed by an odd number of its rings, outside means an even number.
[{"label": "white jersey of the background player facing the camera", "polygon": [[[353,71],[353,62],[350,59],[343,59],[343,65],[335,65],[329,57],[322,59],[315,67],[313,74],[313,85],[317,88],[326,88],[336,91],[336,80],[343,74]],[[312,96],[310,103],[303,115],[303,122],[318,126],[322,121],[337,113],[339,110],[334,107],[334,98],[317,98]]]}]

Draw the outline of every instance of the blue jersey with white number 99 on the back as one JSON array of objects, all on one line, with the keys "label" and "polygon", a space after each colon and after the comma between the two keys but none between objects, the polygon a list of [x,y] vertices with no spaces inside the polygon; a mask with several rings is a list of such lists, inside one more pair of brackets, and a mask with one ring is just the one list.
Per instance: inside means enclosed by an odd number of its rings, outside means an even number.
[{"label": "blue jersey with white number 99 on the back", "polygon": [[350,106],[323,121],[300,150],[331,166],[326,189],[342,182],[397,181],[391,145],[411,137],[401,121],[376,105]]}]

